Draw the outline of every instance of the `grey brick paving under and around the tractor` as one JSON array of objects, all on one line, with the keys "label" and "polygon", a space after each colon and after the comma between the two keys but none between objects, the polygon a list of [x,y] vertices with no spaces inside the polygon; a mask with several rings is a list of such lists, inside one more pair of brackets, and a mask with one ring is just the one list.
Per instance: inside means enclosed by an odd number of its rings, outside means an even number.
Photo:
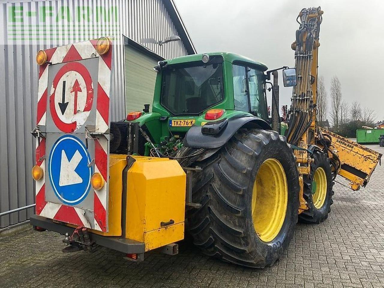
[{"label": "grey brick paving under and around the tractor", "polygon": [[63,254],[61,235],[28,230],[0,238],[0,287],[384,287],[383,172],[377,167],[357,192],[336,184],[328,220],[298,224],[270,268],[222,263],[189,243],[173,257],[148,253],[139,265],[106,248]]}]

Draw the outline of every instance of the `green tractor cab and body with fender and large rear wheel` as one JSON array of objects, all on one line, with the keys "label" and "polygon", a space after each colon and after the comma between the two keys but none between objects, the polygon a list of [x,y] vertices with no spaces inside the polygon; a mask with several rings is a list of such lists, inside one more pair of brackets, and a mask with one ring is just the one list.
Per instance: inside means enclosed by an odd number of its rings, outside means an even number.
[{"label": "green tractor cab and body with fender and large rear wheel", "polygon": [[[300,185],[292,149],[270,125],[270,71],[233,53],[184,56],[154,69],[152,112],[146,105],[129,113],[127,143],[113,139],[111,153],[177,159],[187,174],[194,244],[228,262],[272,265],[293,236]],[[295,85],[294,69],[283,74]],[[111,134],[121,127],[111,123]]]}]

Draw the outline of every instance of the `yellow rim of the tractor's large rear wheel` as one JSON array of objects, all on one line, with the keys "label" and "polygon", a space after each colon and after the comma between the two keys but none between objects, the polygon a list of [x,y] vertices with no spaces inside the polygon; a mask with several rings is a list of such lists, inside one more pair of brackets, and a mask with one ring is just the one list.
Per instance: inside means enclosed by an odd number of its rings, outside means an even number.
[{"label": "yellow rim of the tractor's large rear wheel", "polygon": [[271,242],[283,226],[288,203],[285,171],[275,158],[260,166],[252,191],[253,227],[260,240]]}]

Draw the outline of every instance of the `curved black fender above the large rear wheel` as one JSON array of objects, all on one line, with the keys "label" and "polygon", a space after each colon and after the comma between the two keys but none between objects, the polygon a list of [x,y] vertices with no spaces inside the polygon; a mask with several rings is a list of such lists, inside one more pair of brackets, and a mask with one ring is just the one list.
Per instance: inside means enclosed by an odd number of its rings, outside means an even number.
[{"label": "curved black fender above the large rear wheel", "polygon": [[184,146],[192,148],[215,149],[222,147],[240,128],[257,128],[271,130],[271,126],[256,116],[233,116],[228,118],[228,123],[218,134],[203,134],[202,127],[214,125],[216,122],[208,122],[204,126],[192,126],[184,138]]}]

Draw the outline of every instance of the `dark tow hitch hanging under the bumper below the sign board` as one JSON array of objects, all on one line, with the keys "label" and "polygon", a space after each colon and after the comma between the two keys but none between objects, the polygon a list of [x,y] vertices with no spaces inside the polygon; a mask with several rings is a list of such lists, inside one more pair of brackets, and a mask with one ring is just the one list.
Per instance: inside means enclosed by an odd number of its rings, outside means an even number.
[{"label": "dark tow hitch hanging under the bumper below the sign board", "polygon": [[63,243],[66,245],[66,247],[63,248],[63,253],[81,250],[84,250],[85,252],[93,252],[95,248],[94,242],[91,241],[87,228],[82,227],[77,227],[71,236],[68,232],[65,233]]}]

